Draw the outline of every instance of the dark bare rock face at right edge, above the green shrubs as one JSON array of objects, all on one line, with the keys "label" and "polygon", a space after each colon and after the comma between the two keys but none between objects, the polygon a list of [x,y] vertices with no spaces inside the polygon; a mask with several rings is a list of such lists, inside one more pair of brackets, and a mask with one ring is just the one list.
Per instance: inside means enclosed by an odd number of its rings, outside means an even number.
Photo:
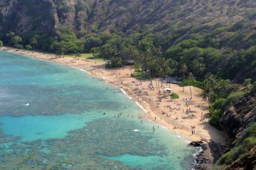
[{"label": "dark bare rock face at right edge, above the green shrubs", "polygon": [[236,140],[256,121],[256,93],[243,97],[232,105],[220,118],[222,130]]}]

